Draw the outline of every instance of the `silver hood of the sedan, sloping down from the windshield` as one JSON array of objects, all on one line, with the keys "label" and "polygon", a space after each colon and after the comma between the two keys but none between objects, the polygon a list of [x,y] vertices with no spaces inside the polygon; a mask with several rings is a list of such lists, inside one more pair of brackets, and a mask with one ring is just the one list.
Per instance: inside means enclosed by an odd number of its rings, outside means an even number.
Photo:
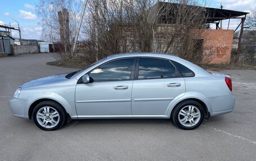
[{"label": "silver hood of the sedan, sloping down from the windshield", "polygon": [[67,73],[62,73],[58,75],[43,77],[40,79],[32,80],[29,82],[25,82],[24,84],[20,85],[21,88],[29,88],[32,86],[42,86],[42,85],[49,85],[49,84],[55,84],[57,82],[62,82],[67,80],[66,76]]}]

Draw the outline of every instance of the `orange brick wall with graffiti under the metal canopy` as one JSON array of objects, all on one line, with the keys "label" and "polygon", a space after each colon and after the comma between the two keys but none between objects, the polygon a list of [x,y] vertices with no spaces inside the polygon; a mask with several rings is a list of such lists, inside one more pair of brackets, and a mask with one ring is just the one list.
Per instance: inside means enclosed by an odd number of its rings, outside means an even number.
[{"label": "orange brick wall with graffiti under the metal canopy", "polygon": [[234,30],[203,31],[203,54],[205,56],[211,56],[211,61],[208,63],[230,63],[233,36]]}]

